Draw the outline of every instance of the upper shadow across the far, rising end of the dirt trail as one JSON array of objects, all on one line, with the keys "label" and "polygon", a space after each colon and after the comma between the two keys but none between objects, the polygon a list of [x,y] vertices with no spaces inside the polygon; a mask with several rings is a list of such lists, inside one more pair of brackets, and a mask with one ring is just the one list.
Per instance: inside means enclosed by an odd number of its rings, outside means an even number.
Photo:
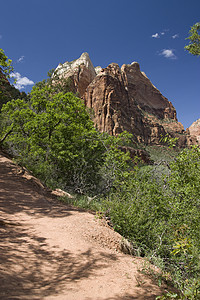
[{"label": "upper shadow across the far, rising end of the dirt trail", "polygon": [[23,211],[35,217],[48,214],[54,218],[66,217],[71,215],[70,211],[78,210],[55,201],[55,197],[52,199],[38,179],[23,177],[14,163],[0,155],[0,212],[13,215]]}]

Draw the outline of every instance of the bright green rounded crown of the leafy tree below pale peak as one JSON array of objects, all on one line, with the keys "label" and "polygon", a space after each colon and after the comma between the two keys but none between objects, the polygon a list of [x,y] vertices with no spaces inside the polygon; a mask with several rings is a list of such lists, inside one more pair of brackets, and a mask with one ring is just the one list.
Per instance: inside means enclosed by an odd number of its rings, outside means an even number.
[{"label": "bright green rounded crown of the leafy tree below pale peak", "polygon": [[[48,85],[34,87],[28,102],[17,99],[4,105],[2,117],[9,147],[45,182],[64,177],[69,184],[75,165],[95,155],[96,145],[90,143],[93,123],[71,93],[56,94]],[[83,151],[86,146],[88,151]]]}]

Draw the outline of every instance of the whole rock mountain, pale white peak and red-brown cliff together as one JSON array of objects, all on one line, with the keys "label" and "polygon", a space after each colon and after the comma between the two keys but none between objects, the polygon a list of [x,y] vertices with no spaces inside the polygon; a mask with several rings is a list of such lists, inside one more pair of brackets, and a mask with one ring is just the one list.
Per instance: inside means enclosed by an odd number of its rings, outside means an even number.
[{"label": "whole rock mountain, pale white peak and red-brown cliff together", "polygon": [[178,137],[179,146],[194,143],[177,121],[176,110],[137,62],[112,63],[94,68],[87,53],[56,68],[57,74],[72,80],[73,91],[94,111],[94,123],[101,132],[116,135],[126,130],[136,142],[159,144],[161,135]]}]

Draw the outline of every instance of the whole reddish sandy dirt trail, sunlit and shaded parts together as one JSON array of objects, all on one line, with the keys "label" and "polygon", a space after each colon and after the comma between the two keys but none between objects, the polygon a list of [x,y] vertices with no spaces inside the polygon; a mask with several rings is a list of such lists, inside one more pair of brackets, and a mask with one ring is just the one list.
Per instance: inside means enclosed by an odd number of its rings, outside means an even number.
[{"label": "whole reddish sandy dirt trail, sunlit and shaded parts together", "polygon": [[120,239],[0,155],[0,299],[155,299],[141,260],[116,250]]}]

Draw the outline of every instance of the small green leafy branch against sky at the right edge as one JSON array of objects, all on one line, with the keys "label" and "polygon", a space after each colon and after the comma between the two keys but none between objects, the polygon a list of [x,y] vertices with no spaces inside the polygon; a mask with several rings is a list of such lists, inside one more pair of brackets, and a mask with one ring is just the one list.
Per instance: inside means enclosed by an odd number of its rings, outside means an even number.
[{"label": "small green leafy branch against sky at the right edge", "polygon": [[187,38],[190,40],[189,45],[185,46],[185,49],[193,55],[200,55],[200,22],[194,24],[190,31],[190,36]]}]

